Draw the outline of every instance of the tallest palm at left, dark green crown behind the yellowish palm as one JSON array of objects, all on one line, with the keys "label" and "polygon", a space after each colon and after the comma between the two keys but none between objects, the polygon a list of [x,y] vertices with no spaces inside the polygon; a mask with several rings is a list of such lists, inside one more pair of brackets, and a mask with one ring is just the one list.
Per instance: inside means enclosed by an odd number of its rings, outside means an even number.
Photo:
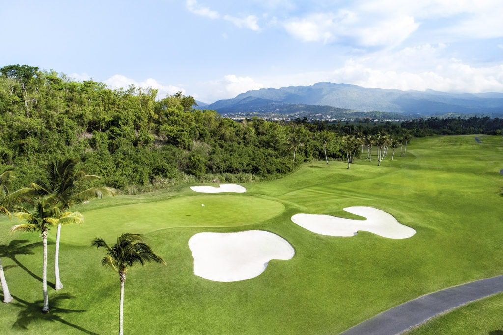
[{"label": "tallest palm at left, dark green crown behind the yellowish palm", "polygon": [[[62,210],[69,210],[74,204],[87,200],[101,199],[104,195],[115,195],[115,190],[108,187],[93,187],[94,181],[100,177],[76,171],[76,159],[56,159],[46,165],[47,183],[32,183],[32,188],[39,194],[49,195],[62,204]],[[56,252],[54,255],[54,289],[63,288],[59,276],[59,243],[61,240],[61,225],[56,232]]]}]

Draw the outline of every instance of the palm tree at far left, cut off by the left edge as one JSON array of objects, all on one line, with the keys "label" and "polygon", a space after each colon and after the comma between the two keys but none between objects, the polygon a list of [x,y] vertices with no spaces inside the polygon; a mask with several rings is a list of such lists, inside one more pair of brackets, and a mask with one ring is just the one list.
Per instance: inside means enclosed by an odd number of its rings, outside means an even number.
[{"label": "palm tree at far left, cut off by the left edge", "polygon": [[[16,202],[26,193],[30,191],[28,188],[23,188],[16,192],[10,193],[9,187],[11,186],[14,175],[12,170],[5,170],[0,174],[0,214],[11,215],[11,210]],[[5,278],[4,267],[2,266],[2,258],[0,258],[0,282],[2,283],[2,290],[4,291],[4,302],[8,303],[13,300],[7,280]]]}]

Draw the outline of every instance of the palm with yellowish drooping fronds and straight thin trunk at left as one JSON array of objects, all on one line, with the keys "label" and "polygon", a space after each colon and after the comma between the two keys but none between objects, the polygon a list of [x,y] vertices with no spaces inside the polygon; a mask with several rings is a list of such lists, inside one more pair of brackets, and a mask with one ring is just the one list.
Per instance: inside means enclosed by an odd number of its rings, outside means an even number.
[{"label": "palm with yellowish drooping fronds and straight thin trunk at left", "polygon": [[42,265],[42,292],[44,295],[44,307],[42,312],[49,311],[49,297],[47,295],[47,235],[50,228],[65,224],[80,224],[83,222],[83,216],[79,212],[63,212],[61,203],[55,203],[52,196],[39,197],[35,201],[34,208],[27,210],[21,208],[14,215],[23,224],[12,227],[11,231],[39,232],[44,246],[43,265]]}]

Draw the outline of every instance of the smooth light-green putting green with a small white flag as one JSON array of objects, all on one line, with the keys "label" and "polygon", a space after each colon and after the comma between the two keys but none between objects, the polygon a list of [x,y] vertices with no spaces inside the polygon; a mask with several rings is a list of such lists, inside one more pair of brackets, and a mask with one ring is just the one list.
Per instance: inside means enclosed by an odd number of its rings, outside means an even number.
[{"label": "smooth light-green putting green with a small white flag", "polygon": [[175,227],[251,225],[279,215],[284,209],[277,201],[217,194],[102,208],[85,212],[82,226],[64,227],[64,242],[89,245],[96,236],[113,240],[125,231],[144,234]]}]

